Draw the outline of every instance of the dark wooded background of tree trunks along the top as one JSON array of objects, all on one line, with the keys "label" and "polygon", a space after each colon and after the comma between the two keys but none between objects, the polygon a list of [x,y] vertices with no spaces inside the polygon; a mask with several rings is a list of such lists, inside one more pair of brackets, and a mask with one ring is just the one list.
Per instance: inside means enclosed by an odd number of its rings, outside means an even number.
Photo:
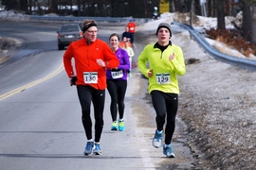
[{"label": "dark wooded background of tree trunks along the top", "polygon": [[[161,0],[169,2],[169,12],[202,15],[200,0]],[[0,0],[5,9],[26,14],[56,13],[61,16],[152,18],[160,0]],[[226,29],[225,16],[243,11],[242,36],[256,44],[256,0],[205,0],[207,17],[217,17],[218,29]],[[72,7],[72,8],[71,8]]]}]

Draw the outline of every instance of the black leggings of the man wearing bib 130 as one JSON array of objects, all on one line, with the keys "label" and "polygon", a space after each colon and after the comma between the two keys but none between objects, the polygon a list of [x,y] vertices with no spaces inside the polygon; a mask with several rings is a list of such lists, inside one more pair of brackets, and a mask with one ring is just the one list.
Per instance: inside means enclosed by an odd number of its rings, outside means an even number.
[{"label": "black leggings of the man wearing bib 130", "polygon": [[95,142],[101,140],[101,132],[104,125],[103,110],[105,103],[105,90],[96,90],[91,86],[77,86],[78,96],[82,107],[82,125],[87,140],[92,139],[91,101],[94,106],[95,118]]}]

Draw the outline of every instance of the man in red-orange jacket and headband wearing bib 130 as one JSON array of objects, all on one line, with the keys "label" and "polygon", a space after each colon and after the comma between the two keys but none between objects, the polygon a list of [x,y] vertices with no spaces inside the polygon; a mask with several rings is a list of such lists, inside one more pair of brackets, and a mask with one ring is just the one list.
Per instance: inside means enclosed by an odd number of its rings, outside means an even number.
[{"label": "man in red-orange jacket and headband wearing bib 130", "polygon": [[[119,59],[107,42],[97,39],[98,27],[95,21],[85,20],[82,31],[83,38],[77,42],[71,42],[64,53],[64,69],[70,77],[70,85],[77,85],[82,106],[82,125],[87,138],[83,154],[101,155],[106,68],[118,67]],[[76,72],[72,66],[72,59],[74,59]],[[94,105],[95,139],[92,135],[91,102]]]}]

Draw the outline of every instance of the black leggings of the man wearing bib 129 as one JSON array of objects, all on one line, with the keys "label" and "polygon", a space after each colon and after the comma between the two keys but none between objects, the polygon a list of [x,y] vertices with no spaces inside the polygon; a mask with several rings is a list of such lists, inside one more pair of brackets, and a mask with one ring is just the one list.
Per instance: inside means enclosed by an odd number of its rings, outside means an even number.
[{"label": "black leggings of the man wearing bib 129", "polygon": [[175,117],[178,108],[178,95],[176,93],[163,93],[152,91],[152,102],[156,112],[155,122],[158,131],[163,129],[165,117],[167,123],[165,127],[165,144],[171,144],[175,129]]}]

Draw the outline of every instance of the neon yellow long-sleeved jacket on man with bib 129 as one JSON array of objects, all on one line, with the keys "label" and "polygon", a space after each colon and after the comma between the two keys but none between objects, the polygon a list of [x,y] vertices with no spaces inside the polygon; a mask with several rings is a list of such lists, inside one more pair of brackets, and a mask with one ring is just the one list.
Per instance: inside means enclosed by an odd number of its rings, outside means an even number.
[{"label": "neon yellow long-sleeved jacket on man with bib 129", "polygon": [[[179,93],[177,76],[186,73],[183,52],[174,44],[170,44],[162,52],[155,44],[146,45],[137,59],[139,71],[149,78],[148,92],[157,90],[163,93]],[[169,57],[173,54],[175,57],[170,61]],[[150,70],[153,70],[152,77],[148,76]]]}]

